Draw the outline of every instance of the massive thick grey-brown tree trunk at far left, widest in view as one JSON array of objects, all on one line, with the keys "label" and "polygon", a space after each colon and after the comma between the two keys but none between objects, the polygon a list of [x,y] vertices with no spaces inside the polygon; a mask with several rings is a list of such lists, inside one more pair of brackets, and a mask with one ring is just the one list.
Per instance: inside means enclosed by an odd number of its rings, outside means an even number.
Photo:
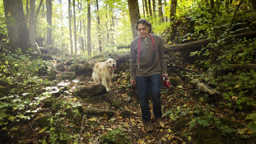
[{"label": "massive thick grey-brown tree trunk at far left, widest in view", "polygon": [[5,18],[13,21],[14,24],[7,24],[7,33],[11,52],[21,48],[23,53],[27,53],[29,46],[28,26],[25,19],[22,0],[3,0]]}]

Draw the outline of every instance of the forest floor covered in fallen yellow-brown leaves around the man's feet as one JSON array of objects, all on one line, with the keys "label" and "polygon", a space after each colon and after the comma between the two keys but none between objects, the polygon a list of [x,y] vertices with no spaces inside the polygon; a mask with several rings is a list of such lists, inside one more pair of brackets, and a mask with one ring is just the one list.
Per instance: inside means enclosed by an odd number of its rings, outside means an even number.
[{"label": "forest floor covered in fallen yellow-brown leaves around the man's feet", "polygon": [[[89,64],[95,63],[95,60],[88,61]],[[56,61],[52,61],[53,65],[57,65]],[[195,69],[196,70],[196,69]],[[58,73],[58,77],[60,77],[61,73]],[[115,74],[117,75],[117,74]],[[171,73],[170,77],[176,78],[179,81],[178,86],[171,87],[167,89],[162,87],[161,89],[161,102],[162,102],[162,113],[163,113],[163,121],[165,128],[158,129],[156,124],[154,123],[153,118],[153,104],[152,101],[149,101],[149,106],[151,108],[151,117],[152,124],[154,126],[154,131],[147,133],[144,130],[144,125],[141,118],[141,110],[139,106],[138,99],[131,95],[132,87],[129,86],[129,82],[127,81],[128,72],[124,72],[120,74],[119,78],[113,80],[111,83],[111,91],[114,92],[114,96],[122,101],[122,106],[120,109],[116,109],[111,106],[109,101],[107,100],[107,93],[103,95],[106,98],[106,101],[102,103],[92,102],[90,99],[82,99],[77,95],[73,95],[72,97],[67,97],[65,95],[60,95],[60,99],[65,101],[72,101],[74,103],[81,103],[83,109],[92,108],[92,109],[104,109],[104,110],[113,110],[113,117],[108,117],[106,115],[103,116],[92,116],[92,117],[84,117],[83,122],[80,125],[74,125],[67,118],[63,118],[65,125],[72,125],[67,129],[67,133],[73,135],[73,142],[71,143],[86,143],[86,144],[97,144],[102,143],[101,140],[104,135],[108,135],[112,132],[112,136],[116,139],[118,137],[118,131],[115,131],[118,128],[121,128],[124,132],[124,135],[127,136],[127,140],[133,144],[194,144],[194,143],[203,143],[200,142],[206,137],[200,137],[197,134],[197,127],[190,128],[190,121],[195,118],[195,111],[201,109],[204,113],[209,112],[211,115],[223,119],[228,119],[234,122],[239,122],[243,125],[246,125],[244,120],[246,114],[243,112],[237,112],[235,109],[230,109],[225,105],[219,104],[216,101],[214,96],[211,96],[214,99],[213,102],[208,104],[206,102],[206,98],[204,98],[204,94],[195,93],[195,88],[189,83],[189,81],[181,80],[175,73]],[[91,78],[91,76],[78,76],[77,80],[79,83],[71,84],[71,87],[76,87],[79,89],[81,86],[93,86],[96,85]],[[131,97],[131,101],[127,102],[127,97]],[[120,116],[120,113],[123,110],[130,111],[133,116],[130,118],[123,118]],[[64,110],[63,110],[64,111]],[[41,113],[49,112],[48,108],[43,108]],[[206,114],[205,114],[206,115]],[[185,123],[182,123],[181,121]],[[98,123],[97,127],[90,127],[87,125],[88,122],[95,121]],[[81,126],[82,129],[80,130]],[[74,127],[78,127],[79,130],[75,131]],[[245,127],[245,126],[244,126]],[[209,128],[213,129],[214,126]],[[30,129],[29,127],[25,127],[27,131]],[[19,138],[19,143],[28,143],[33,140],[33,143],[39,143],[38,139],[41,139],[43,135],[47,136],[49,133],[42,132],[43,128],[37,128],[36,130],[30,131],[26,134],[26,136]],[[41,134],[38,132],[41,130]],[[246,131],[246,130],[245,130]],[[39,136],[40,135],[40,136]],[[78,138],[74,138],[77,137]],[[37,137],[37,138],[35,138]],[[106,141],[109,142],[114,139],[110,137],[105,138]],[[36,140],[35,140],[36,139]],[[201,140],[200,140],[201,139]],[[35,140],[35,141],[34,141]],[[47,140],[45,141],[47,142]],[[47,142],[48,143],[48,142]],[[65,143],[65,142],[61,142]],[[121,142],[124,143],[124,142]],[[250,141],[251,144],[255,143],[254,141]]]}]

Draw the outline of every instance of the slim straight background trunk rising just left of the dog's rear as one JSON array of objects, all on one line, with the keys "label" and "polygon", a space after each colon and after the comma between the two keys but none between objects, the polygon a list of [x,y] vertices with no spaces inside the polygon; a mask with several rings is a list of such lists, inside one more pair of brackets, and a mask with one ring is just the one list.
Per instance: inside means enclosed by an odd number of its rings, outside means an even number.
[{"label": "slim straight background trunk rising just left of the dog's rear", "polygon": [[90,0],[87,0],[88,4],[88,13],[87,13],[87,48],[88,48],[88,56],[91,56],[91,7]]}]

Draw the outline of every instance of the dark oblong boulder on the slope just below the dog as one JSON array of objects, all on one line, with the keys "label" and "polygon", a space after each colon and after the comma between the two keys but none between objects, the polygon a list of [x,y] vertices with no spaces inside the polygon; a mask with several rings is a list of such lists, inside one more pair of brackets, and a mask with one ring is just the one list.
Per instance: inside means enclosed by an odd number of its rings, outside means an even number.
[{"label": "dark oblong boulder on the slope just below the dog", "polygon": [[106,87],[102,84],[93,85],[92,87],[81,87],[77,95],[81,98],[90,98],[96,95],[106,93]]}]

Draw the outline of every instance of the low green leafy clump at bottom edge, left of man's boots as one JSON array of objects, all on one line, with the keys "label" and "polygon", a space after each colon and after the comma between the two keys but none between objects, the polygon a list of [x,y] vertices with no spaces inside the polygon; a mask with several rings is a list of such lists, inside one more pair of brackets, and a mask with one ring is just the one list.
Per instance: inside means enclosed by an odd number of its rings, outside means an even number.
[{"label": "low green leafy clump at bottom edge, left of man's boots", "polygon": [[129,136],[125,134],[122,128],[114,129],[103,135],[100,139],[100,142],[104,144],[109,144],[112,142],[120,144],[131,144],[131,142],[129,141]]}]

